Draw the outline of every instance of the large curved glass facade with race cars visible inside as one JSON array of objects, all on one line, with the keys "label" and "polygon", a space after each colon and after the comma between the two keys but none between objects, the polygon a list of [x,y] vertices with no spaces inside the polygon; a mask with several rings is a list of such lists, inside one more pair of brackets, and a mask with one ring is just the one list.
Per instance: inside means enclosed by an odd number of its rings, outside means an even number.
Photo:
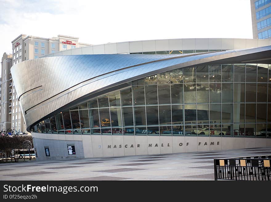
[{"label": "large curved glass facade with race cars visible inside", "polygon": [[271,137],[271,65],[184,67],[130,82],[31,127],[37,133]]}]

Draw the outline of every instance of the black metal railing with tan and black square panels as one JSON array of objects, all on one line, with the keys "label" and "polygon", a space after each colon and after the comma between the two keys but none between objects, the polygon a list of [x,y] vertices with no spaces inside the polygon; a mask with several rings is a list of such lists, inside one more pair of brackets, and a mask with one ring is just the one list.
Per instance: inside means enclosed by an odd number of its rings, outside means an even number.
[{"label": "black metal railing with tan and black square panels", "polygon": [[271,154],[214,159],[215,180],[271,180]]}]

